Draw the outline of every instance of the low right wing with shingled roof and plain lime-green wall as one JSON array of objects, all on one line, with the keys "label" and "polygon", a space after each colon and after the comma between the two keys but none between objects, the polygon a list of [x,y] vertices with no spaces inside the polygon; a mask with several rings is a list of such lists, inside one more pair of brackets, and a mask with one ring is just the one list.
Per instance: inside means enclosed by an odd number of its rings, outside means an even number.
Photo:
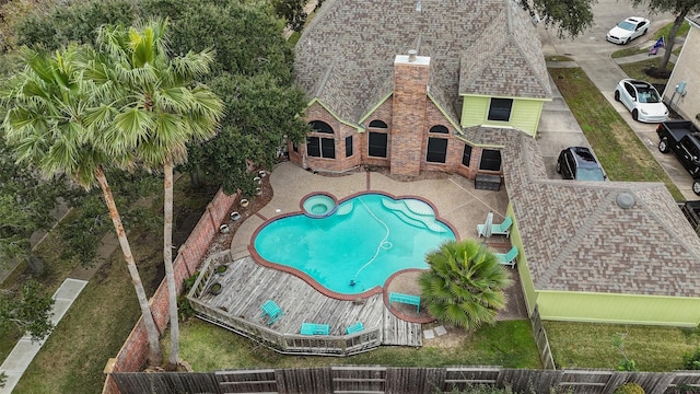
[{"label": "low right wing with shingled roof and plain lime-green wall", "polygon": [[536,142],[503,155],[528,312],[557,321],[700,324],[700,239],[662,183],[548,179]]}]

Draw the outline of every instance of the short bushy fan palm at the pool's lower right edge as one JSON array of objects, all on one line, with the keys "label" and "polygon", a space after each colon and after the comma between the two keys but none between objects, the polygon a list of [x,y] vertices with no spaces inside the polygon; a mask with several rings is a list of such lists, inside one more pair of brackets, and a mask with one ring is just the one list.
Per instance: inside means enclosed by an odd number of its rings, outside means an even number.
[{"label": "short bushy fan palm at the pool's lower right edge", "polygon": [[469,329],[493,324],[512,283],[493,253],[475,241],[447,241],[425,262],[419,283],[431,315]]}]

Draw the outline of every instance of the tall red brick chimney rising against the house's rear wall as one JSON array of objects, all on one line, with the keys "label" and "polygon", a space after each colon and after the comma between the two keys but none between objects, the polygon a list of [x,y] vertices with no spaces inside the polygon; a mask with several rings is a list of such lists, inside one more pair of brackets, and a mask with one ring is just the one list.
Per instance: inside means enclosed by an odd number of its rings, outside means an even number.
[{"label": "tall red brick chimney rising against the house's rear wall", "polygon": [[396,175],[418,175],[425,143],[425,106],[430,58],[397,55],[394,60],[394,99],[389,140],[390,171]]}]

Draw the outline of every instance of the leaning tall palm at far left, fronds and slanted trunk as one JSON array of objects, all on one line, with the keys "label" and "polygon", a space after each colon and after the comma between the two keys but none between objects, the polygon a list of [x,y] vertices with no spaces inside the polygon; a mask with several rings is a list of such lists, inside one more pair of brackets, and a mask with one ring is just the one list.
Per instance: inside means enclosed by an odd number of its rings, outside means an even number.
[{"label": "leaning tall palm at far left, fronds and slanted trunk", "polygon": [[105,177],[105,169],[132,166],[133,157],[121,149],[129,146],[125,136],[105,138],[101,121],[86,121],[100,113],[96,100],[101,91],[83,78],[82,54],[75,46],[55,56],[23,48],[24,70],[0,92],[7,108],[2,125],[18,162],[30,163],[48,176],[67,174],[86,189],[95,184],[102,189],[141,308],[150,346],[148,361],[160,364],[160,333]]}]

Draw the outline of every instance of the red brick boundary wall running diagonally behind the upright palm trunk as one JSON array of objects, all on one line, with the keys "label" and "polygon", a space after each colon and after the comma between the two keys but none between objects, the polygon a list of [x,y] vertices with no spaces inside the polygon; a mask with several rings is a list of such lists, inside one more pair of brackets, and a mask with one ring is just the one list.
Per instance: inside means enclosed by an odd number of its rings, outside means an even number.
[{"label": "red brick boundary wall running diagonally behind the upright palm trunk", "polygon": [[[211,240],[219,231],[219,225],[229,217],[229,210],[236,200],[237,195],[226,196],[219,190],[214,198],[207,206],[207,210],[195,225],[189,237],[179,248],[177,257],[173,262],[175,273],[175,288],[179,294],[183,290],[183,280],[190,277],[205,257]],[[161,333],[165,331],[170,321],[167,286],[165,279],[161,282],[158,290],[150,300],[151,311],[155,324]],[[143,322],[139,322],[133,326],[131,334],[121,346],[119,354],[112,359],[106,371],[109,372],[137,372],[143,369],[148,355],[149,344]],[[117,385],[114,383],[109,374],[105,381],[103,393],[119,393]]]}]

